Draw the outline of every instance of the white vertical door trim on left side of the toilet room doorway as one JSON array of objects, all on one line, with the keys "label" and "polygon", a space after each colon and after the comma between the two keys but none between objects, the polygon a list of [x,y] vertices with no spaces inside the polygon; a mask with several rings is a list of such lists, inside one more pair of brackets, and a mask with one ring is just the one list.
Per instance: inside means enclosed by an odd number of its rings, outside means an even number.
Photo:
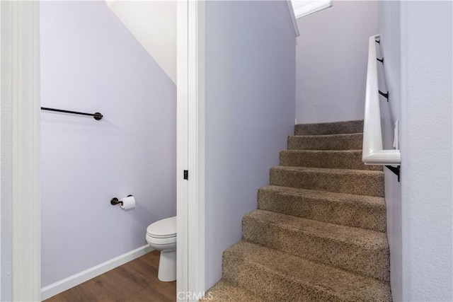
[{"label": "white vertical door trim on left side of the toilet room doorway", "polygon": [[39,2],[13,1],[11,9],[13,301],[39,301]]}]

